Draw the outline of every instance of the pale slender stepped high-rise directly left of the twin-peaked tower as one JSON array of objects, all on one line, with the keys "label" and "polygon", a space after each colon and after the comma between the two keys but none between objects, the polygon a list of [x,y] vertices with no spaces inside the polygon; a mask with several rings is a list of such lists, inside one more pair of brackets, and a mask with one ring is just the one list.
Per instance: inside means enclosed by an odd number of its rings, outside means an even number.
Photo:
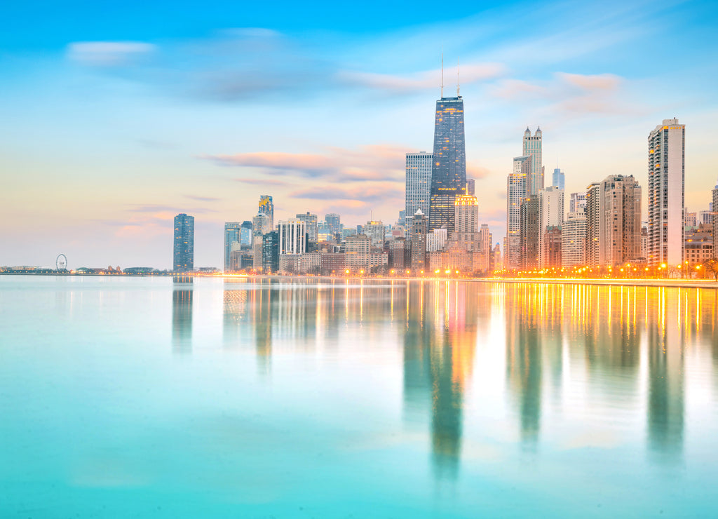
[{"label": "pale slender stepped high-rise directly left of the twin-peaked tower", "polygon": [[513,171],[506,179],[506,240],[503,268],[516,270],[521,266],[521,201],[526,197],[526,179],[531,172],[531,157],[513,159]]}]

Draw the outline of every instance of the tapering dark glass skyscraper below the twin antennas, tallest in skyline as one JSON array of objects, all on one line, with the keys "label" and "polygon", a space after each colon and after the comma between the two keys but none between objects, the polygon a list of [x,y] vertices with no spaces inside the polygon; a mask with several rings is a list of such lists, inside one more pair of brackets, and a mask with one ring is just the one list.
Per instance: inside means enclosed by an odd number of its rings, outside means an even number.
[{"label": "tapering dark glass skyscraper below the twin antennas, tallest in skyline", "polygon": [[434,121],[434,158],[429,200],[429,231],[454,231],[454,200],[466,194],[466,144],[464,136],[464,100],[437,100]]}]

